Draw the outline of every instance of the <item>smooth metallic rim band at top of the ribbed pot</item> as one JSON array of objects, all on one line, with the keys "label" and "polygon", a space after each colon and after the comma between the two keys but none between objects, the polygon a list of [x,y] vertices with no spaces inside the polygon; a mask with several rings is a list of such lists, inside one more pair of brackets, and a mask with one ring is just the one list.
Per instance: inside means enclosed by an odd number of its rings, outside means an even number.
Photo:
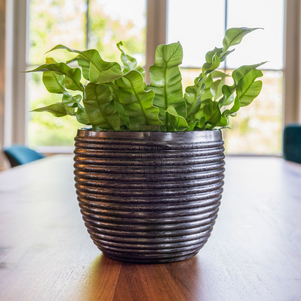
[{"label": "smooth metallic rim band at top of the ribbed pot", "polygon": [[97,131],[92,128],[79,128],[78,137],[85,138],[109,138],[109,139],[139,139],[152,140],[158,142],[209,142],[222,140],[222,131],[203,130],[187,132],[134,132],[134,131]]}]

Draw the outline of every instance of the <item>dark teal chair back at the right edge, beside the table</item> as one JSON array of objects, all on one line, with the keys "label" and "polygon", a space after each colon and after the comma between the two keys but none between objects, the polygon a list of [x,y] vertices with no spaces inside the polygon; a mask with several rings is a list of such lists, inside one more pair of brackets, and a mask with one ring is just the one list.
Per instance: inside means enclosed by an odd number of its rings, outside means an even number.
[{"label": "dark teal chair back at the right edge, beside the table", "polygon": [[291,124],[284,128],[283,157],[301,163],[301,125]]}]

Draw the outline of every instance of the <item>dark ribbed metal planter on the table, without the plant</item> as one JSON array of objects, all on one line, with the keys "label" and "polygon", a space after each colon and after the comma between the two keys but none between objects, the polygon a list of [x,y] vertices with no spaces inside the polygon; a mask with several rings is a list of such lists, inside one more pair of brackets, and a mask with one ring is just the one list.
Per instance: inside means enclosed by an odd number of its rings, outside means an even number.
[{"label": "dark ribbed metal planter on the table, without the plant", "polygon": [[221,200],[221,131],[79,129],[75,141],[79,206],[106,256],[159,263],[197,254]]}]

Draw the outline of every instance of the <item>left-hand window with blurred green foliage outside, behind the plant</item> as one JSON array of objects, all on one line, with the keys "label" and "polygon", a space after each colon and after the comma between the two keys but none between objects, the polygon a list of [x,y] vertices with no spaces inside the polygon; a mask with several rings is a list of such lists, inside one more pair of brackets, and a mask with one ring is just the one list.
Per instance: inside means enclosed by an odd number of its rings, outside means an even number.
[{"label": "left-hand window with blurred green foliage outside, behind the plant", "polygon": [[[139,0],[30,0],[27,70],[44,64],[46,51],[57,44],[73,49],[96,48],[107,61],[120,61],[116,42],[122,39],[127,53],[145,64],[146,3]],[[73,57],[64,50],[48,54],[56,61]],[[61,101],[43,85],[42,73],[27,76],[29,110]],[[49,113],[29,113],[27,140],[30,147],[73,146],[82,124],[73,116],[56,118]],[[49,130],[51,129],[51,131]]]}]

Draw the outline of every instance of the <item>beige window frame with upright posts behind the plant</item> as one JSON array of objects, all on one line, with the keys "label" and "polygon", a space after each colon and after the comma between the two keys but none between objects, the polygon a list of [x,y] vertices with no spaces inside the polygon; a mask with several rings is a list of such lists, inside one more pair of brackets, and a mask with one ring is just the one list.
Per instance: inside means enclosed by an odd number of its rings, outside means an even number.
[{"label": "beige window frame with upright posts behind the plant", "polygon": [[[4,1],[5,0],[0,0]],[[89,2],[89,0],[87,0]],[[27,144],[27,82],[26,70],[28,51],[28,10],[29,0],[6,1],[5,8],[5,68],[0,70],[5,76],[5,97],[0,99],[0,139],[1,145],[12,143]],[[146,70],[154,63],[157,45],[166,43],[167,0],[147,0],[146,21]],[[227,0],[225,0],[227,9]],[[283,72],[283,126],[291,122],[301,122],[301,4],[298,0],[284,0],[284,66]],[[225,28],[227,22],[225,15]],[[26,24],[26,26],[24,26]],[[297,26],[296,26],[297,24]],[[0,28],[1,30],[1,28]],[[3,31],[4,29],[2,29]],[[1,40],[0,43],[4,43]],[[0,46],[2,46],[0,44]],[[0,47],[0,55],[1,49]],[[3,52],[3,51],[2,51]],[[296,64],[297,62],[297,64]],[[226,65],[225,65],[226,67]],[[191,67],[189,67],[191,69]],[[149,78],[146,79],[149,81]],[[25,93],[24,93],[25,92]],[[61,153],[66,147],[41,147],[43,152]],[[73,147],[70,147],[72,152]],[[243,154],[240,154],[243,155]]]}]

